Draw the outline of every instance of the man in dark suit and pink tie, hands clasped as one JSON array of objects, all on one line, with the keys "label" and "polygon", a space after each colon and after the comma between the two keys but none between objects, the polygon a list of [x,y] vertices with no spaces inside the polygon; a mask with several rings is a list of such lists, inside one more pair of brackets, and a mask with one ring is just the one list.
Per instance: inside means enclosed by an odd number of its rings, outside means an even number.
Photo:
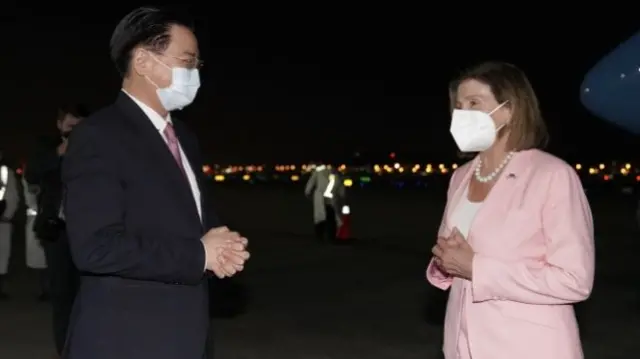
[{"label": "man in dark suit and pink tie, hands clasped", "polygon": [[216,217],[195,135],[170,115],[196,96],[198,53],[166,10],[134,10],[112,35],[122,91],[76,127],[62,168],[82,272],[63,358],[206,357],[206,272],[234,275],[249,254]]}]

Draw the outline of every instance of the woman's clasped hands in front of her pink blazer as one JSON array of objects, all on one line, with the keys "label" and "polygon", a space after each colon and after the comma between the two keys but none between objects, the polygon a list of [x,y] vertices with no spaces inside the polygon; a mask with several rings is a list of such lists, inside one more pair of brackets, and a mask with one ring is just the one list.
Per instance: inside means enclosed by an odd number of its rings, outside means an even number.
[{"label": "woman's clasped hands in front of her pink blazer", "polygon": [[475,253],[457,228],[448,238],[439,237],[431,252],[440,270],[454,277],[471,280]]}]

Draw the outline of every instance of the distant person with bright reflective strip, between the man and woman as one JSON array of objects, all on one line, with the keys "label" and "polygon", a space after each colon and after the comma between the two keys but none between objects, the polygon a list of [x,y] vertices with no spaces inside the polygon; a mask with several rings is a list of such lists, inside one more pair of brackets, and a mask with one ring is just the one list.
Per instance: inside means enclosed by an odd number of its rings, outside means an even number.
[{"label": "distant person with bright reflective strip, between the man and woman", "polygon": [[307,181],[305,195],[313,201],[316,238],[335,241],[342,222],[345,187],[342,176],[329,165],[318,164]]}]

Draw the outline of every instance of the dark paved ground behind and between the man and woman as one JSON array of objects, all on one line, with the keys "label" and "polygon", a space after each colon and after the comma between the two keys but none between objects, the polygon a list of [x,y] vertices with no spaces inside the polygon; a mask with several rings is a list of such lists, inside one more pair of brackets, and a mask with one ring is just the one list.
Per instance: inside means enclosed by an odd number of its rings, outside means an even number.
[{"label": "dark paved ground behind and between the man and woman", "polygon": [[[243,315],[216,319],[217,358],[439,358],[442,298],[423,279],[442,203],[428,192],[353,196],[354,246],[314,243],[307,203],[285,189],[221,189],[223,217],[247,233],[253,258],[237,279]],[[587,358],[640,351],[640,237],[629,199],[593,201],[598,277],[581,308]],[[21,259],[20,250],[16,258]],[[46,304],[32,299],[35,278],[15,266],[14,299],[0,303],[0,359],[51,358]],[[640,292],[639,292],[640,293]],[[425,315],[425,312],[430,315]],[[435,313],[435,315],[432,315]]]}]

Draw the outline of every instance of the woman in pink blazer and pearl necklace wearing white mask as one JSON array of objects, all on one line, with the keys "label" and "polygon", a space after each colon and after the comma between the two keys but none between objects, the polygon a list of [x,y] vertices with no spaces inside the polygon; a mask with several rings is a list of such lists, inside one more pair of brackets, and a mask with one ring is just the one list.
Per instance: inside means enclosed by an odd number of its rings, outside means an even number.
[{"label": "woman in pink blazer and pearl necklace wearing white mask", "polygon": [[591,210],[576,172],[537,148],[547,131],[513,65],[450,87],[451,133],[475,158],[451,177],[427,279],[450,289],[446,359],[583,358],[573,303],[593,286]]}]

